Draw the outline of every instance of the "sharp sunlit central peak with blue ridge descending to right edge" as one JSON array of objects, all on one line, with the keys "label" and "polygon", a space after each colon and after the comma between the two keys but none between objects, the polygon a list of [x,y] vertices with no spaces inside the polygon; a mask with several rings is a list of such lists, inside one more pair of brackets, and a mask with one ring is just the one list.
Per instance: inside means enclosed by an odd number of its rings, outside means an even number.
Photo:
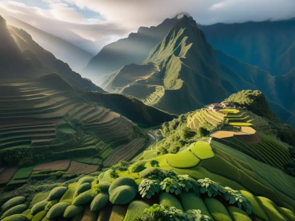
[{"label": "sharp sunlit central peak with blue ridge descending to right edge", "polygon": [[167,33],[142,65],[126,64],[106,78],[104,88],[177,114],[221,101],[239,90],[261,90],[276,116],[295,125],[294,70],[273,77],[214,50],[196,22],[186,16]]}]

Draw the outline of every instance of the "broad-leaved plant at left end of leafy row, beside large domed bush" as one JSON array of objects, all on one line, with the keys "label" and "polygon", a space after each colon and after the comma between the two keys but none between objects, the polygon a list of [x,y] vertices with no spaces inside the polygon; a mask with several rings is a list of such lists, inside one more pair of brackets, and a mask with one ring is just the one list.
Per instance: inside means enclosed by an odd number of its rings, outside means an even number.
[{"label": "broad-leaved plant at left end of leafy row, beside large domed bush", "polygon": [[155,193],[160,191],[160,182],[155,179],[142,179],[139,184],[138,192],[141,197],[147,196],[150,199]]}]

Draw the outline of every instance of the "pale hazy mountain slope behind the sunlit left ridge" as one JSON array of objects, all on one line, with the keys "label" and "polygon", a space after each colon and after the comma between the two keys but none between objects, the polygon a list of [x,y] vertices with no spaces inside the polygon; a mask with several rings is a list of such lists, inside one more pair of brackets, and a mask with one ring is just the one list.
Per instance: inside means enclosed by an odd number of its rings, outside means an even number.
[{"label": "pale hazy mountain slope behind the sunlit left ridge", "polygon": [[91,53],[86,52],[76,45],[37,29],[19,19],[10,16],[6,16],[5,19],[9,25],[21,28],[29,33],[37,44],[53,53],[57,59],[66,62],[76,72],[81,71],[93,57]]}]

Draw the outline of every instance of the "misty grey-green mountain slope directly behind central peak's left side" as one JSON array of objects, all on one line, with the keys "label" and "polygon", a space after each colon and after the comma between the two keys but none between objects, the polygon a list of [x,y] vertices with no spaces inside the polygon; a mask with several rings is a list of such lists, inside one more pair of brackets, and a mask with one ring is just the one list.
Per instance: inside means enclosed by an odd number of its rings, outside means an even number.
[{"label": "misty grey-green mountain slope directly behind central peak's left side", "polygon": [[137,33],[104,46],[83,70],[88,75],[99,77],[111,73],[123,65],[141,64],[177,22],[177,17],[165,19],[154,27],[140,27]]}]

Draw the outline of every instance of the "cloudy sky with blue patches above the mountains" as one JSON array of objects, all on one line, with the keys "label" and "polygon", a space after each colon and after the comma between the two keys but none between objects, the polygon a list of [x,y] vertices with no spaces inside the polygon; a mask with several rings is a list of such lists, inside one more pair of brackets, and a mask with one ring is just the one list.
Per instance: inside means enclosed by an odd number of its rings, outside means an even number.
[{"label": "cloudy sky with blue patches above the mountains", "polygon": [[0,0],[10,15],[97,54],[106,44],[190,14],[198,24],[295,17],[295,0]]}]

